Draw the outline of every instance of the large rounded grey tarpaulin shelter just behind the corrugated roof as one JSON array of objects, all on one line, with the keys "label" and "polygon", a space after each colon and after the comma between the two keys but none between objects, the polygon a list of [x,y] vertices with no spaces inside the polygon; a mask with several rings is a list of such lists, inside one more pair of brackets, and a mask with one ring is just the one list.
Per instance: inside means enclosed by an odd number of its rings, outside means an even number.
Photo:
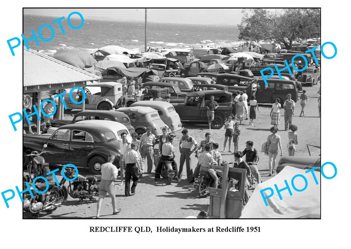
[{"label": "large rounded grey tarpaulin shelter just behind the corrugated roof", "polygon": [[96,63],[90,53],[81,49],[58,50],[52,57],[78,68],[92,67]]}]

